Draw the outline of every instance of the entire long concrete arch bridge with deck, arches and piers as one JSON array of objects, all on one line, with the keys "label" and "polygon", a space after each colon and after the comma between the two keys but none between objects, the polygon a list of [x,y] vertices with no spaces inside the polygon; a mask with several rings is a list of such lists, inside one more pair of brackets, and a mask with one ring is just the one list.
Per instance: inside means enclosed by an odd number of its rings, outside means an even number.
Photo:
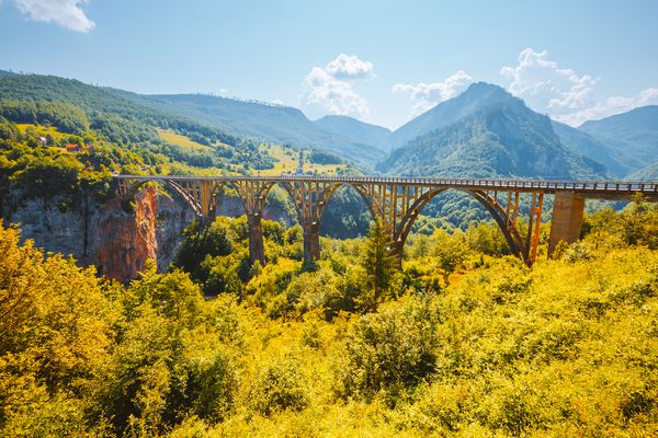
[{"label": "entire long concrete arch bridge with deck, arches and piers", "polygon": [[[131,199],[148,182],[168,185],[194,209],[200,219],[213,220],[225,187],[232,187],[245,207],[249,226],[251,263],[264,265],[265,252],[261,218],[270,189],[282,186],[291,196],[304,229],[304,260],[320,258],[319,229],[327,203],[342,186],[354,188],[373,218],[386,228],[390,254],[401,261],[405,241],[413,222],[434,196],[458,191],[476,199],[496,221],[512,254],[529,266],[536,261],[540,223],[546,196],[553,196],[553,218],[548,252],[558,242],[571,243],[580,235],[586,199],[629,199],[640,193],[658,201],[658,182],[477,180],[384,176],[178,176],[114,175],[120,195]],[[527,217],[520,219],[522,203],[529,203]],[[522,227],[523,222],[523,233]]]}]

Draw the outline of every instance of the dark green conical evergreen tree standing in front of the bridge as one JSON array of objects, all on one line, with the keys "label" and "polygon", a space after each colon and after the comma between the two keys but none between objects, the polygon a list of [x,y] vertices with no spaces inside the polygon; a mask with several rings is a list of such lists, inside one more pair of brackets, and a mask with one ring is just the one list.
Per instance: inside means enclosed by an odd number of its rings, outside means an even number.
[{"label": "dark green conical evergreen tree standing in front of the bridge", "polygon": [[379,220],[375,220],[367,232],[362,261],[368,292],[360,299],[360,303],[365,309],[374,309],[390,290],[396,273],[396,260],[390,255],[390,245],[386,229]]}]

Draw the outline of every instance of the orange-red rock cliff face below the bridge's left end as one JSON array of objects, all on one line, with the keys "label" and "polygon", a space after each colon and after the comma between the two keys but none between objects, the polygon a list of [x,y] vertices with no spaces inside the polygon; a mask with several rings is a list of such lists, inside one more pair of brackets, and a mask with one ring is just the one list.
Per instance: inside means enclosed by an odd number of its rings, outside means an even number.
[{"label": "orange-red rock cliff face below the bridge's left end", "polygon": [[134,215],[125,212],[118,199],[103,210],[95,264],[100,274],[127,283],[138,277],[147,260],[157,261],[156,191],[149,187],[135,196]]}]

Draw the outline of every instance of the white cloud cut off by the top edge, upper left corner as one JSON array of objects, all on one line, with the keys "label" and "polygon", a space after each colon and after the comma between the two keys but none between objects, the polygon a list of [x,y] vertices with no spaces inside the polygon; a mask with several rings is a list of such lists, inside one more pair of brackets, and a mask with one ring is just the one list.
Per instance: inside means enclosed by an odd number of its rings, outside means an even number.
[{"label": "white cloud cut off by the top edge, upper left corner", "polygon": [[89,32],[95,23],[87,18],[82,5],[88,0],[14,0],[30,20],[55,23],[76,32]]}]

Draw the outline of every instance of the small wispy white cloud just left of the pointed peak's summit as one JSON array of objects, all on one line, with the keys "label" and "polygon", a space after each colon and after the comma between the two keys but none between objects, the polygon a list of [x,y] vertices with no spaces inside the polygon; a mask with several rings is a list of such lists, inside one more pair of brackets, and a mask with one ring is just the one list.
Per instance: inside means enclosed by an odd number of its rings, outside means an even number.
[{"label": "small wispy white cloud just left of the pointed peak's summit", "polygon": [[447,77],[443,82],[398,83],[393,85],[390,91],[409,95],[415,102],[409,117],[415,117],[434,107],[436,104],[456,96],[470,83],[473,83],[473,78],[464,70],[460,70]]}]

